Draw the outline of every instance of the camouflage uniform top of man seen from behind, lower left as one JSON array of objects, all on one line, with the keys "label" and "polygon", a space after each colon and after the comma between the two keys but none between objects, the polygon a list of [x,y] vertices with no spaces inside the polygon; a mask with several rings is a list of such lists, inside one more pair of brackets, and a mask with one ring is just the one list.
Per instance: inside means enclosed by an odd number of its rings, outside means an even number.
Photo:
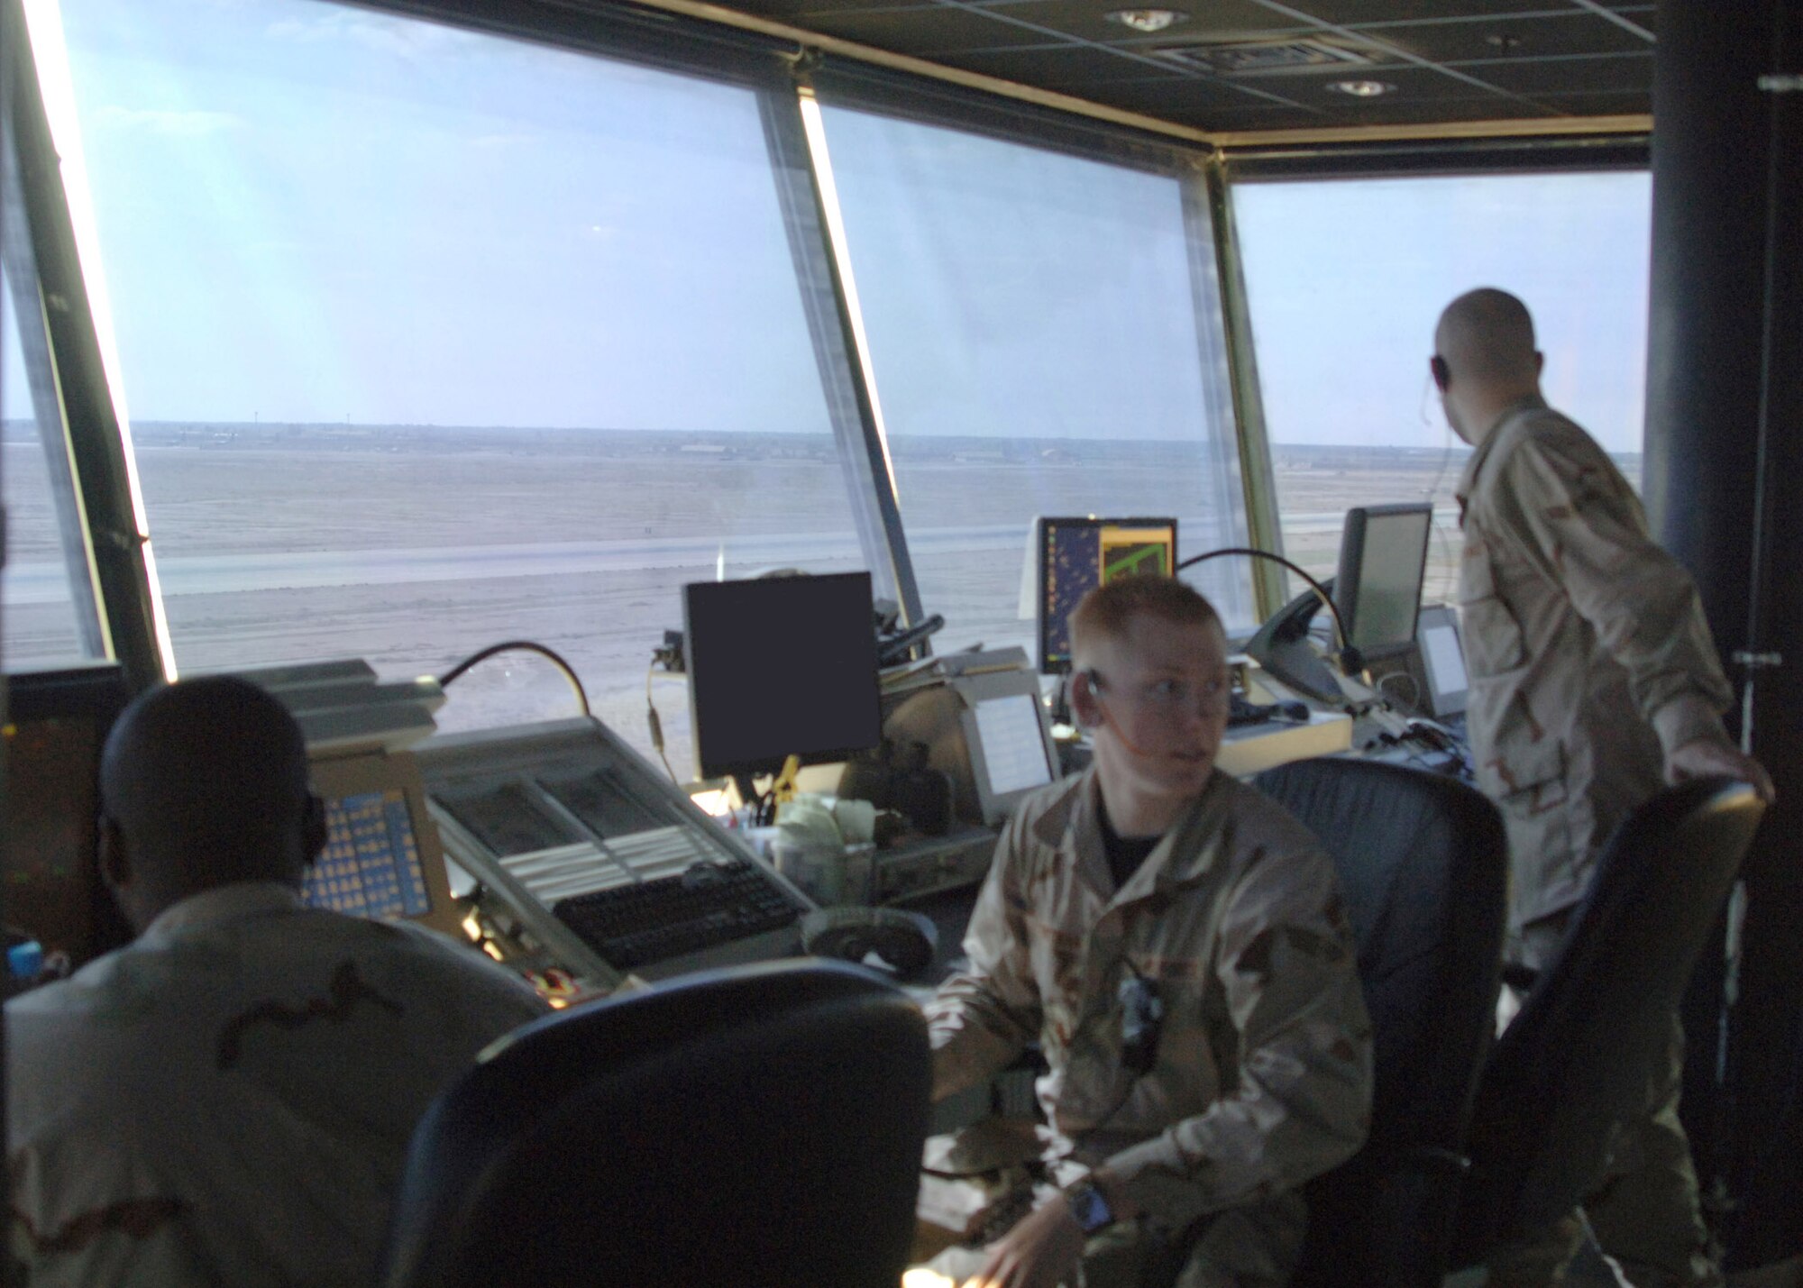
[{"label": "camouflage uniform top of man seen from behind, lower left", "polygon": [[545,1014],[416,925],[240,882],[5,1007],[32,1284],[370,1284],[438,1090]]}]

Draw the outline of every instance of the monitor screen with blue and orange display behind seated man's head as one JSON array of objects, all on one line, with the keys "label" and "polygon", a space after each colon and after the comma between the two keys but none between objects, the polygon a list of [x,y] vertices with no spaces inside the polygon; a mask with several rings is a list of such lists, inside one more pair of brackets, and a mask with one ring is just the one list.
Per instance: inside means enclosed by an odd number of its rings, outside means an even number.
[{"label": "monitor screen with blue and orange display behind seated man's head", "polygon": [[1168,577],[1177,566],[1177,520],[1039,521],[1039,669],[1071,671],[1071,610],[1116,577]]}]

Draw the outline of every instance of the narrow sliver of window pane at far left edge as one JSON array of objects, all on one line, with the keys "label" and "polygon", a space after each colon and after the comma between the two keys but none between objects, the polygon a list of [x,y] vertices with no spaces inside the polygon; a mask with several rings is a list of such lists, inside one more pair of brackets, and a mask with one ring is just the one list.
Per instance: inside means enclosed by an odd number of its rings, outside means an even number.
[{"label": "narrow sliver of window pane at far left edge", "polygon": [[[13,312],[13,283],[0,283],[0,496],[5,500],[5,568],[0,570],[0,662],[7,671],[72,666],[101,653],[92,612],[87,554],[74,514],[69,453],[59,424],[49,442],[38,429],[31,377]],[[67,539],[65,539],[67,532]],[[72,579],[83,577],[81,593]],[[78,601],[81,608],[78,610]]]}]

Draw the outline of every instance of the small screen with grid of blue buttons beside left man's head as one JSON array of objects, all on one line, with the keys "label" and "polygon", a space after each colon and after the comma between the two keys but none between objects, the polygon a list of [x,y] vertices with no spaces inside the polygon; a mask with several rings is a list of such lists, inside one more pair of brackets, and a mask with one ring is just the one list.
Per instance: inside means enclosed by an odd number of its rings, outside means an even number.
[{"label": "small screen with grid of blue buttons beside left man's head", "polygon": [[407,794],[397,788],[326,801],[326,848],[301,898],[352,916],[398,920],[431,911]]}]

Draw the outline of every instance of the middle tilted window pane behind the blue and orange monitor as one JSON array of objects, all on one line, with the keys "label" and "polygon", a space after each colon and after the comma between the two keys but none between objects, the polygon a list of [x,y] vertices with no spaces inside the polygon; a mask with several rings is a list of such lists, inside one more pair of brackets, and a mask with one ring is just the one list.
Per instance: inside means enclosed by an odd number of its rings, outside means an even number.
[{"label": "middle tilted window pane behind the blue and orange monitor", "polygon": [[[1177,179],[847,108],[824,121],[941,649],[1033,655],[1035,514],[1176,516],[1179,554],[1242,543],[1213,249]],[[1244,566],[1195,584],[1249,624]]]}]

